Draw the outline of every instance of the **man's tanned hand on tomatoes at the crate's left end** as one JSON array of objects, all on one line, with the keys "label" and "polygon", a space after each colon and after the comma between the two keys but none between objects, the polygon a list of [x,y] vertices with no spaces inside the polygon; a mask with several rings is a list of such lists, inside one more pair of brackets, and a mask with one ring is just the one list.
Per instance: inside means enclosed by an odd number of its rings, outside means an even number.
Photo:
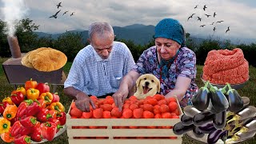
[{"label": "man's tanned hand on tomatoes at the crate's left end", "polygon": [[77,98],[75,101],[75,106],[77,106],[79,110],[90,112],[90,105],[93,107],[93,109],[96,109],[94,102],[87,94],[80,92],[75,97]]}]

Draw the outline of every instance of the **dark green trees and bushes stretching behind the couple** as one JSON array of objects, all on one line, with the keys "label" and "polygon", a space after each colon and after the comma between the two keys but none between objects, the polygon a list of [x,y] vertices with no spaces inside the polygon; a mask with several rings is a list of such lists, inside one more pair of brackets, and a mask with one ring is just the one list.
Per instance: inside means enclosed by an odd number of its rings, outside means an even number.
[{"label": "dark green trees and bushes stretching behind the couple", "polygon": [[[19,25],[16,35],[18,36],[18,42],[22,53],[26,53],[38,47],[52,47],[54,49],[61,50],[64,54],[66,54],[68,61],[73,62],[76,54],[78,54],[78,51],[89,45],[88,42],[82,40],[81,33],[75,34],[66,32],[56,40],[54,40],[54,38],[51,36],[38,38],[38,35],[34,34],[33,31],[38,30],[39,26],[34,24],[33,20],[30,20],[29,18],[22,19],[20,22],[18,22],[18,24]],[[0,57],[10,58],[10,48],[7,42],[7,36],[4,34],[5,25],[6,23],[2,22],[0,19]],[[115,41],[126,43],[134,56],[135,62],[138,61],[138,58],[144,50],[150,46],[154,46],[154,39],[151,39],[147,44],[143,46],[137,45],[131,40],[115,38]],[[241,44],[235,46],[230,43],[230,40],[220,42],[220,40],[211,40],[209,38],[206,41],[198,44],[197,42],[194,42],[192,38],[190,38],[189,33],[186,33],[186,46],[190,48],[190,50],[193,50],[196,54],[198,65],[204,65],[207,54],[210,50],[233,50],[234,48],[238,47],[242,49],[249,64],[256,67],[256,61],[254,58],[256,55],[256,42],[251,43],[250,45]]]}]

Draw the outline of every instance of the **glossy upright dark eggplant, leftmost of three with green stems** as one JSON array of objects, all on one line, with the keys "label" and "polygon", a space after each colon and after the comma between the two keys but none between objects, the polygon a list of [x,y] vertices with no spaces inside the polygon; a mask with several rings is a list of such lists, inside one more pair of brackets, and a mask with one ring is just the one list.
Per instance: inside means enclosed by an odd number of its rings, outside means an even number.
[{"label": "glossy upright dark eggplant, leftmost of three with green stems", "polygon": [[193,106],[198,110],[206,110],[209,105],[210,97],[209,90],[207,88],[209,82],[206,82],[205,86],[198,90],[198,93],[192,98]]}]

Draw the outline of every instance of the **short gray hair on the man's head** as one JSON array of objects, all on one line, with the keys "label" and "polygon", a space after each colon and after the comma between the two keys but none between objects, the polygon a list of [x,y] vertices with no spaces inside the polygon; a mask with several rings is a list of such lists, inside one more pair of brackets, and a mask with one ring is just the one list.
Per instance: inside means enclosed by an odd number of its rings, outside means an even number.
[{"label": "short gray hair on the man's head", "polygon": [[109,23],[107,22],[94,22],[89,26],[89,30],[88,30],[88,38],[93,37],[94,34],[99,34],[100,36],[102,36],[102,38],[108,36],[107,34],[113,34],[114,36],[114,30],[113,27],[110,26]]}]

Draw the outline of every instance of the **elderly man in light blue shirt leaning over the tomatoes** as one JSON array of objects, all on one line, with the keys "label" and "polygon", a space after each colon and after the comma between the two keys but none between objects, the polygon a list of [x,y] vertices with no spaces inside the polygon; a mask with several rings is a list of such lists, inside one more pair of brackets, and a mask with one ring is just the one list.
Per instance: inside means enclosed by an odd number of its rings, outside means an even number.
[{"label": "elderly man in light blue shirt leaning over the tomatoes", "polygon": [[106,22],[95,22],[88,30],[90,45],[74,58],[64,93],[76,98],[79,110],[95,108],[90,95],[106,98],[114,94],[134,65],[134,58],[125,43],[114,42],[114,30]]}]

